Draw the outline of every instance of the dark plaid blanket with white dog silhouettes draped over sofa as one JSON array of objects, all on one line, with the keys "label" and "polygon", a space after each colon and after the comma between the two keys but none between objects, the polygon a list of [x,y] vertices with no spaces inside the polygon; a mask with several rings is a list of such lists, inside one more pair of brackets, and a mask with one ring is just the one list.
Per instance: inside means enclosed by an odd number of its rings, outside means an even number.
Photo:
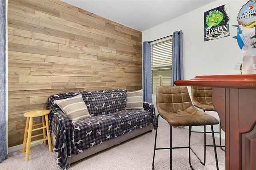
[{"label": "dark plaid blanket with white dog silhouettes draped over sofa", "polygon": [[[54,101],[78,94],[82,94],[92,117],[73,123]],[[156,114],[152,103],[144,102],[144,110],[124,110],[125,105],[126,90],[121,89],[51,95],[47,103],[47,109],[51,110],[49,131],[56,139],[54,151],[58,152],[57,163],[60,167],[69,168],[67,158],[71,154],[79,154],[102,142],[152,123],[156,129]]]}]

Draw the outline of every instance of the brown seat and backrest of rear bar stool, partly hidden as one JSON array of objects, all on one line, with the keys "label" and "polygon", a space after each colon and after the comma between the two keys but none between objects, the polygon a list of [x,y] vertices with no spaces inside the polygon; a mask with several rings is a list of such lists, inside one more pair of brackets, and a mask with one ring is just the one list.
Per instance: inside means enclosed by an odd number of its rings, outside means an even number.
[{"label": "brown seat and backrest of rear bar stool, partly hidden", "polygon": [[192,102],[204,111],[216,111],[212,105],[212,87],[191,87]]}]

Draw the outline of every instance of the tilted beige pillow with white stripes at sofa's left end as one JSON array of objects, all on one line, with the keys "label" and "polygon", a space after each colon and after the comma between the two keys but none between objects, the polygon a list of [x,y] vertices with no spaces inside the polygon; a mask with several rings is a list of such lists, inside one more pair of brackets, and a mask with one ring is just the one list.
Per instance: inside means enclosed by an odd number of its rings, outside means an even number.
[{"label": "tilted beige pillow with white stripes at sofa's left end", "polygon": [[74,123],[80,119],[90,117],[81,94],[68,99],[56,100],[55,103]]}]

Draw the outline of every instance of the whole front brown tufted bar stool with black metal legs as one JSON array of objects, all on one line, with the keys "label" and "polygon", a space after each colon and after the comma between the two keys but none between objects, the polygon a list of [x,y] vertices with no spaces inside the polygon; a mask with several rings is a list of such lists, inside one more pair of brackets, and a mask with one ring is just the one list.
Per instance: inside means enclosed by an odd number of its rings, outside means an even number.
[{"label": "whole front brown tufted bar stool with black metal legs", "polygon": [[[170,170],[172,169],[172,149],[188,148],[189,165],[192,170],[194,170],[194,168],[192,167],[192,164],[191,164],[191,156],[190,156],[191,151],[196,155],[200,163],[205,165],[205,162],[202,162],[202,160],[191,148],[191,144],[190,144],[192,126],[204,126],[204,125],[211,125],[216,170],[219,170],[216,144],[215,144],[214,131],[213,131],[213,125],[218,125],[219,121],[216,118],[204,112],[199,111],[192,105],[187,87],[156,86],[156,107],[158,110],[158,115],[157,115],[157,126],[156,126],[152,170],[154,170],[154,160],[155,160],[156,150],[162,150],[162,149],[170,149]],[[156,148],[159,115],[163,119],[165,119],[170,125],[170,147],[168,148]],[[181,147],[172,146],[172,126],[188,126],[189,127],[188,146],[181,146]],[[205,155],[206,155],[206,152],[204,151],[204,158],[205,158]]]}]

